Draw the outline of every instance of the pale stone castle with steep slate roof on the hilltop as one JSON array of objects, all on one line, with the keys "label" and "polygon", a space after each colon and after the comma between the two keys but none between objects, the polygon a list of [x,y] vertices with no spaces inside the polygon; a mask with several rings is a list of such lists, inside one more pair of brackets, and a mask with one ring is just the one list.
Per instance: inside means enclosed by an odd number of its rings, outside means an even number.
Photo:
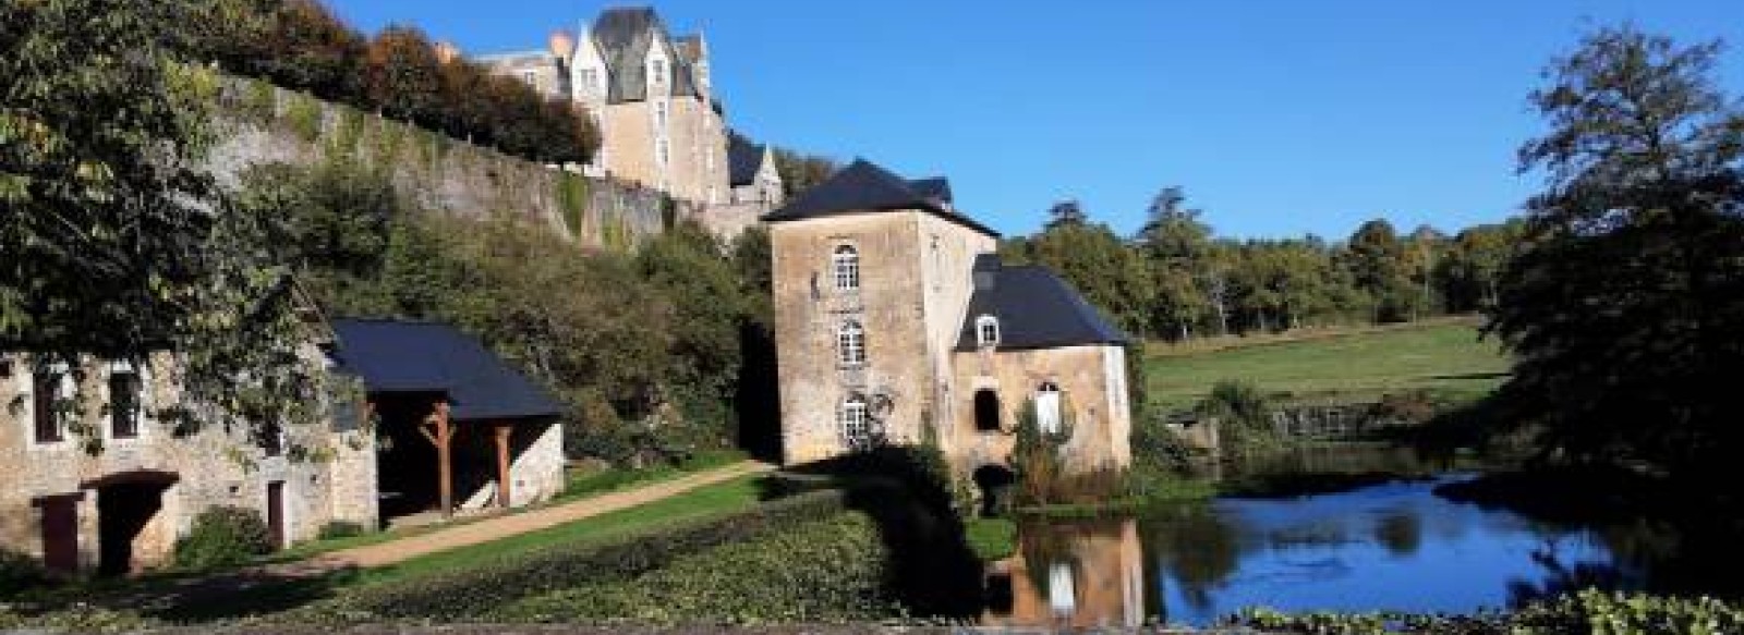
[{"label": "pale stone castle with steep slate roof on the hilltop", "polygon": [[[478,56],[495,73],[586,106],[600,129],[588,171],[699,206],[734,204],[727,124],[703,35],[675,37],[654,9],[607,9],[544,51]],[[755,215],[752,215],[755,216]]]}]

